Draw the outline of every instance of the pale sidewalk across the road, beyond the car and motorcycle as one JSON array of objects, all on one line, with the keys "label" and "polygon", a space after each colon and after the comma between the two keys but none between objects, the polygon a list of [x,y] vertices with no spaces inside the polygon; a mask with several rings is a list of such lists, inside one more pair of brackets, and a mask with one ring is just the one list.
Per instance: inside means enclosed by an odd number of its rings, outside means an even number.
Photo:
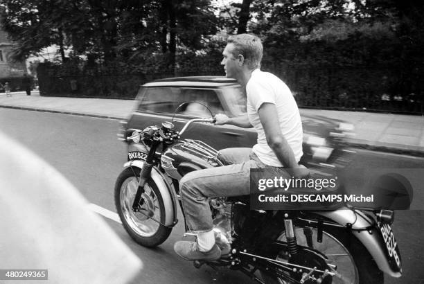
[{"label": "pale sidewalk across the road, beyond the car and motorcycle", "polygon": [[[125,119],[135,109],[134,100],[39,96],[38,91],[0,93],[0,107],[28,109],[100,118]],[[301,109],[301,114],[323,116],[355,125],[349,143],[355,147],[424,156],[424,116]]]}]

